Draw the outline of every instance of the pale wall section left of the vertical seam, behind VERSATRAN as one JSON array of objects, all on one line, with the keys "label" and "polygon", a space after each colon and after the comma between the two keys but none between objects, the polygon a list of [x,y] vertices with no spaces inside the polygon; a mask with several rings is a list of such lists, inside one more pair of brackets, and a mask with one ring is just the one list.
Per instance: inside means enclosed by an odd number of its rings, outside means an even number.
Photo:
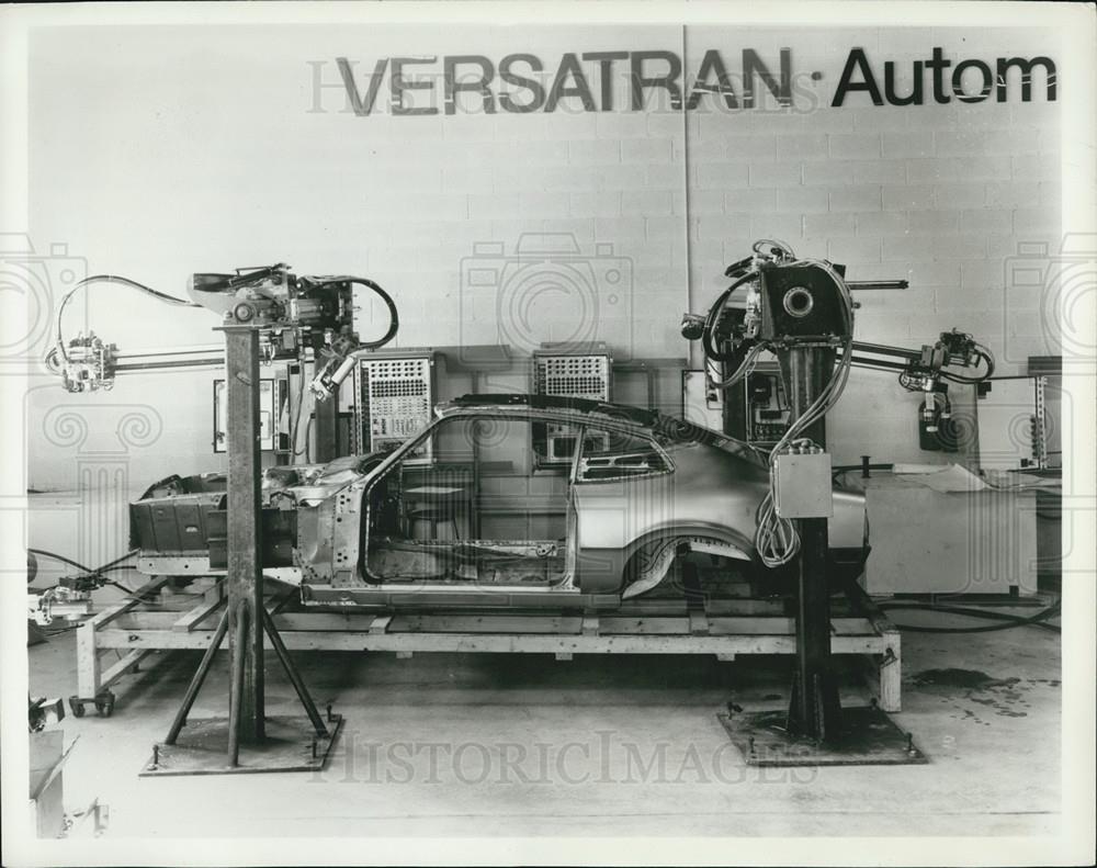
[{"label": "pale wall section left of the vertical seam, behind VERSATRAN", "polygon": [[[275,261],[370,277],[399,305],[394,346],[505,342],[528,352],[602,340],[619,359],[685,358],[682,116],[566,103],[552,114],[485,114],[475,94],[460,94],[457,113],[442,111],[446,55],[530,52],[554,71],[568,52],[637,45],[680,53],[681,30],[318,29],[246,40],[205,29],[45,31],[32,47],[33,236],[68,244],[88,257],[89,273],[177,293],[194,271]],[[339,56],[355,61],[363,90],[378,57],[439,58],[408,70],[423,80],[433,71],[439,113],[391,114],[386,72],[377,111],[348,114]],[[73,68],[83,70],[77,79]],[[627,105],[627,84],[614,80],[615,104]],[[520,245],[527,256],[545,244],[557,250],[552,264],[520,258]],[[470,281],[491,271],[486,285]],[[121,347],[217,340],[204,312],[115,289],[94,298],[90,315],[71,307],[70,330],[87,324]],[[111,303],[140,317],[112,317]],[[361,304],[369,337],[384,313]],[[120,381],[110,395],[38,391],[30,425],[58,401],[171,404],[166,382]],[[480,388],[523,382],[488,377]],[[134,478],[223,466],[210,454],[210,413],[204,397],[178,408],[156,450],[133,452]],[[202,419],[200,431],[186,419]],[[45,438],[32,450],[35,485],[73,484],[71,449]]]}]

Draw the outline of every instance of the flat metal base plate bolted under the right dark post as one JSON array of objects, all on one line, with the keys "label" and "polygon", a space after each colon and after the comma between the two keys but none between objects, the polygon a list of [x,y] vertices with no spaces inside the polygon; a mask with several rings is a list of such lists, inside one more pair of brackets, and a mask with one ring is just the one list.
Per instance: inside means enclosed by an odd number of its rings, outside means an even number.
[{"label": "flat metal base plate bolted under the right dark post", "polygon": [[790,735],[788,712],[717,714],[748,766],[898,766],[929,759],[908,733],[875,706],[844,708],[841,731],[817,744]]}]

